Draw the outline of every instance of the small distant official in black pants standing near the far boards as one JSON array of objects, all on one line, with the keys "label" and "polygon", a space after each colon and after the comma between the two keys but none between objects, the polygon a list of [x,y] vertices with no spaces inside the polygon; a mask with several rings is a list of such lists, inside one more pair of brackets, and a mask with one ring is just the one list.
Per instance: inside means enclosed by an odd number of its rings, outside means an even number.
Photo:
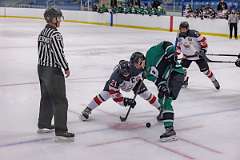
[{"label": "small distant official in black pants standing near the far boards", "polygon": [[230,15],[228,16],[228,25],[229,25],[229,31],[230,31],[229,39],[232,39],[233,29],[234,29],[234,38],[238,39],[238,37],[237,37],[238,21],[239,21],[239,18],[238,18],[236,11],[232,10]]}]

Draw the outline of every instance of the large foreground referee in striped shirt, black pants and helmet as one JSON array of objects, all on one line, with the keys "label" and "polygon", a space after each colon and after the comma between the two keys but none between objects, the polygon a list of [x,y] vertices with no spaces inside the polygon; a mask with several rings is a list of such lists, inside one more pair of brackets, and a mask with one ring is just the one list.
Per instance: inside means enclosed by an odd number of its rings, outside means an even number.
[{"label": "large foreground referee in striped shirt, black pants and helmet", "polygon": [[[54,131],[60,138],[74,137],[67,129],[68,101],[65,78],[70,76],[64,57],[63,38],[57,30],[63,19],[62,12],[48,8],[44,13],[47,25],[38,37],[38,76],[41,87],[41,101],[38,118],[38,133]],[[51,121],[54,116],[54,126]]]}]

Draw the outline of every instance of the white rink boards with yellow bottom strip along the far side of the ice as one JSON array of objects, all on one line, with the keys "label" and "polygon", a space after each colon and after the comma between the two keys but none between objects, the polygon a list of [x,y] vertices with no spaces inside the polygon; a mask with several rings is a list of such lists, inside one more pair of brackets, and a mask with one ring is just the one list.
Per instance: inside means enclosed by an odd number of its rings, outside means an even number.
[{"label": "white rink boards with yellow bottom strip along the far side of the ice", "polygon": [[[44,9],[31,8],[1,8],[1,18],[33,18],[41,19]],[[148,16],[133,14],[114,14],[88,11],[64,10],[66,22],[87,23],[97,25],[113,25],[115,27],[138,28],[159,31],[177,31],[181,21],[188,21],[192,29],[206,35],[228,37],[228,23],[224,19],[185,18],[178,16]],[[112,16],[112,17],[111,17]],[[240,27],[240,25],[239,25]]]}]

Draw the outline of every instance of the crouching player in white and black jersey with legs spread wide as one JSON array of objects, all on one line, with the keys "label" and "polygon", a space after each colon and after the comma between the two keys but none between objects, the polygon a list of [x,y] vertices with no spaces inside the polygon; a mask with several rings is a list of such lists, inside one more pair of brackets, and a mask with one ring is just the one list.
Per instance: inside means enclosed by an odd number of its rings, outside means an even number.
[{"label": "crouching player in white and black jersey with legs spread wide", "polygon": [[[82,111],[80,116],[81,120],[86,121],[92,110],[98,107],[102,102],[112,98],[116,103],[121,106],[130,106],[134,108],[136,102],[134,99],[123,97],[120,89],[129,92],[133,90],[143,99],[147,100],[150,104],[155,106],[160,111],[160,104],[157,97],[149,92],[144,85],[140,83],[143,80],[143,71],[145,66],[145,57],[139,52],[132,54],[130,62],[121,60],[115,67],[110,79],[106,82],[103,91],[95,96],[87,107]],[[138,87],[138,85],[140,85]],[[137,91],[137,89],[139,90]]]}]

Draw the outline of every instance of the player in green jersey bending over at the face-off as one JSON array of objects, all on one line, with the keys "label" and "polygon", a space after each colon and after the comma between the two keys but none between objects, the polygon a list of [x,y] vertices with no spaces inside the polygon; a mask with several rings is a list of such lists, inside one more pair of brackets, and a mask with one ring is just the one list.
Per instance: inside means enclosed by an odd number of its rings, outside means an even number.
[{"label": "player in green jersey bending over at the face-off", "polygon": [[146,54],[145,76],[158,88],[158,101],[163,110],[162,119],[166,132],[161,141],[176,140],[172,101],[176,100],[184,80],[184,71],[177,62],[175,46],[163,41],[151,47]]}]

